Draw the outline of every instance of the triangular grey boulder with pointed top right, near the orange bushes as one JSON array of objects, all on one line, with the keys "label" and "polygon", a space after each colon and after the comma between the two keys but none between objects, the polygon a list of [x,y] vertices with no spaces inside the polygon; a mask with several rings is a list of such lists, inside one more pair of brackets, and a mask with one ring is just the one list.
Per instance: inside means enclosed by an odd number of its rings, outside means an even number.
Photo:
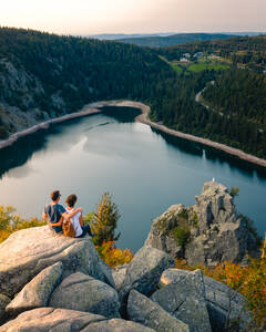
[{"label": "triangular grey boulder with pointed top right, near the orange bushes", "polygon": [[191,332],[212,332],[201,270],[164,286],[151,300],[187,324]]}]

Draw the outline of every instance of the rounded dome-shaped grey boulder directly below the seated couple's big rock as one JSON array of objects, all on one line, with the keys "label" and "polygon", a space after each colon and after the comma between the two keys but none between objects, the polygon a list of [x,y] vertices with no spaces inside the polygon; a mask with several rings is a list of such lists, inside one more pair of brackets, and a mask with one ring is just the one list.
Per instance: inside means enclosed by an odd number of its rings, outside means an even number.
[{"label": "rounded dome-shaped grey boulder directly below the seated couple's big rock", "polygon": [[119,318],[119,295],[112,287],[81,272],[70,274],[51,295],[50,307]]}]

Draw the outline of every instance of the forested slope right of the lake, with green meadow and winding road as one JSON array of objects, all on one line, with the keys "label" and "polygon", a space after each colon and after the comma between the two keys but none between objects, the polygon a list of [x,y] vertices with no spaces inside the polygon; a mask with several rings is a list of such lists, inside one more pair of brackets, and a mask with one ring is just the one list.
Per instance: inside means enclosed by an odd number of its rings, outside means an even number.
[{"label": "forested slope right of the lake, with green meadow and winding road", "polygon": [[[175,95],[170,103],[164,100],[163,112],[154,107],[153,118],[266,157],[265,35],[194,42],[156,52],[178,73],[181,96]],[[186,61],[182,62],[184,56]],[[208,81],[202,103],[208,108],[194,101],[203,87],[198,84],[202,77]],[[214,84],[209,84],[212,81]]]}]

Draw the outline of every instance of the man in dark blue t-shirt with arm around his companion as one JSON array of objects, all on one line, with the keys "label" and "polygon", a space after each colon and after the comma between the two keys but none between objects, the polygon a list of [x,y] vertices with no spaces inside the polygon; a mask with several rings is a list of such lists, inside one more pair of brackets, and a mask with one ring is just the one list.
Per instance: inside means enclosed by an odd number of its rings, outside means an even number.
[{"label": "man in dark blue t-shirt with arm around his companion", "polygon": [[62,224],[64,219],[70,219],[83,209],[79,208],[68,214],[62,205],[59,204],[61,194],[59,190],[51,193],[51,201],[44,207],[44,212],[42,214],[43,219],[48,219],[48,225],[55,231],[62,232]]}]

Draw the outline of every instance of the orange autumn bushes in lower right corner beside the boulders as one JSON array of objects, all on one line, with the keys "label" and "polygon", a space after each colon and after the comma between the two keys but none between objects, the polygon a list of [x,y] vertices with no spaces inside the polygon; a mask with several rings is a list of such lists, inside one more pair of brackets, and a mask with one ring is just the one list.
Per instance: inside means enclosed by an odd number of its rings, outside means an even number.
[{"label": "orange autumn bushes in lower right corner beside the boulders", "polygon": [[242,293],[247,300],[247,307],[254,314],[255,330],[266,328],[266,259],[252,259],[248,266],[242,267],[234,262],[223,262],[215,268],[205,266],[190,267],[185,260],[176,259],[177,269],[201,269],[205,276],[224,282]]}]

